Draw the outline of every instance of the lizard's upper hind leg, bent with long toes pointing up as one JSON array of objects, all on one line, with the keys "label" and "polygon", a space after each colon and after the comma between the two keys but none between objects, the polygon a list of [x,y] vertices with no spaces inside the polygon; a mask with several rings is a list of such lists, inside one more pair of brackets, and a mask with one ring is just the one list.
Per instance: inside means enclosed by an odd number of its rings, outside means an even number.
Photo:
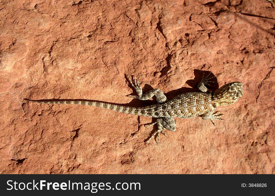
[{"label": "lizard's upper hind leg, bent with long toes pointing up", "polygon": [[127,78],[131,86],[135,89],[135,91],[138,94],[138,96],[129,96],[129,97],[133,97],[139,100],[148,100],[148,99],[151,99],[153,96],[156,96],[156,100],[158,103],[164,103],[167,100],[166,96],[163,94],[163,92],[160,89],[153,89],[143,94],[141,86],[139,85],[139,81],[136,79],[136,77],[134,76],[133,81],[130,79],[128,75],[127,75]]}]

